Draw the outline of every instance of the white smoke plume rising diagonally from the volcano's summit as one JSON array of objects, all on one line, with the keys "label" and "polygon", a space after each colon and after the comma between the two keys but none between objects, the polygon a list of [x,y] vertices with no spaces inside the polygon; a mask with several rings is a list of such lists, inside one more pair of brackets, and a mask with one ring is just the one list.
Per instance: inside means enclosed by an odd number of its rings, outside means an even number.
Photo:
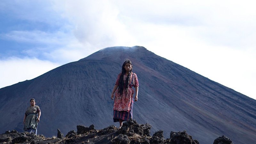
[{"label": "white smoke plume rising diagonally from the volcano's summit", "polygon": [[56,1],[55,8],[75,26],[73,32],[78,41],[97,50],[133,39],[126,25],[118,20],[118,8],[110,1]]}]

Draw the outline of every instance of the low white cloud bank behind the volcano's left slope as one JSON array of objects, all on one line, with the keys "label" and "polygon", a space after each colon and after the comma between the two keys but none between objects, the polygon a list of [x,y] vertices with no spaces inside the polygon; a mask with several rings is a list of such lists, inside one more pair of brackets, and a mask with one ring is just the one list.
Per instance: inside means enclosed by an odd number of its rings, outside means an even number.
[{"label": "low white cloud bank behind the volcano's left slope", "polygon": [[0,88],[33,79],[59,66],[58,63],[36,58],[12,57],[0,60]]}]

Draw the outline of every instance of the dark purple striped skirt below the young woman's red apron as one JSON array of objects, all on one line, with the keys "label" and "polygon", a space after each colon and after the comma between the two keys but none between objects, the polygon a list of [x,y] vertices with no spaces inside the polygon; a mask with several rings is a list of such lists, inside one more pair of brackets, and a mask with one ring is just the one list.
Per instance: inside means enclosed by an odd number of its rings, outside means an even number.
[{"label": "dark purple striped skirt below the young woman's red apron", "polygon": [[114,116],[113,116],[114,122],[119,122],[119,119],[122,119],[123,121],[128,121],[129,119],[132,119],[132,107],[133,107],[133,98],[130,106],[131,109],[129,111],[114,110]]}]

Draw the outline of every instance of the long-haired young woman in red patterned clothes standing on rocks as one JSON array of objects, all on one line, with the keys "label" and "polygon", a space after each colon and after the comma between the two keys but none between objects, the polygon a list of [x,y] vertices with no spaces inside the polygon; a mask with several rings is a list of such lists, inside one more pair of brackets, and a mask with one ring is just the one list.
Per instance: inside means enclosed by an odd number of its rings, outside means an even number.
[{"label": "long-haired young woman in red patterned clothes standing on rocks", "polygon": [[133,94],[135,87],[134,100],[138,100],[139,82],[137,75],[132,72],[131,60],[125,60],[122,66],[122,72],[117,76],[116,84],[111,93],[111,99],[114,99],[114,122],[119,122],[120,127],[123,125],[123,121],[127,121],[132,118],[133,107]]}]

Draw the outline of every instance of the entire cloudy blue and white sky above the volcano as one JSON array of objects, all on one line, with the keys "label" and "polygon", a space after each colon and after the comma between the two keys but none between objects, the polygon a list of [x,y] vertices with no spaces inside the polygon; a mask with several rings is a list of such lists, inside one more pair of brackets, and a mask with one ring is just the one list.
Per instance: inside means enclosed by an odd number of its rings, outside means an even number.
[{"label": "entire cloudy blue and white sky above the volcano", "polygon": [[0,87],[110,46],[146,47],[256,99],[254,1],[2,0]]}]

